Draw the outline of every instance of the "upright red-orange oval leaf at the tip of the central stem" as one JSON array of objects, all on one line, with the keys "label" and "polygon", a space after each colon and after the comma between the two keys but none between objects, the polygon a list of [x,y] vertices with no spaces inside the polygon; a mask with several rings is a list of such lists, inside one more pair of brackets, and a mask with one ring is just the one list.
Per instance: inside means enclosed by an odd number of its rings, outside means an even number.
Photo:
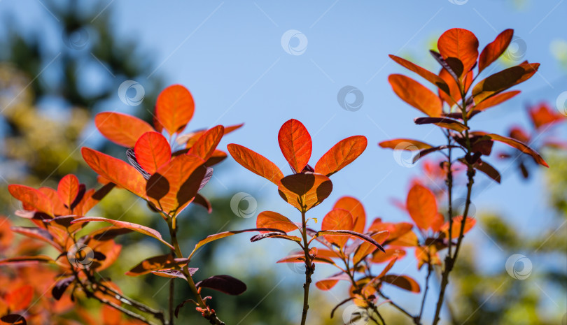
[{"label": "upright red-orange oval leaf at the tip of the central stem", "polygon": [[278,142],[291,168],[295,173],[301,173],[309,163],[313,147],[307,129],[297,120],[288,120],[279,129]]}]

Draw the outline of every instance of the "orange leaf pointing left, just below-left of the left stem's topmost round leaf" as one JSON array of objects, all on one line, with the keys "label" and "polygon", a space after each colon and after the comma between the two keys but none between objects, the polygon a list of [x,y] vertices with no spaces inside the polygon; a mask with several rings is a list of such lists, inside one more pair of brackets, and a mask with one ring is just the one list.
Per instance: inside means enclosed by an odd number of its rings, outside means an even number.
[{"label": "orange leaf pointing left, just below-left of the left stem's topmost round leaf", "polygon": [[150,124],[138,117],[112,112],[97,114],[94,125],[107,139],[124,147],[134,147],[142,134],[153,131]]}]

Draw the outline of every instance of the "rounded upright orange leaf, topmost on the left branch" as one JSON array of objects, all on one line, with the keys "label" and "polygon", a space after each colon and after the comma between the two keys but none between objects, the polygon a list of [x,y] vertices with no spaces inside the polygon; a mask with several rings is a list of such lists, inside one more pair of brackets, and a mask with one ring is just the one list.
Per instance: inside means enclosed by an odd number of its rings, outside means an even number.
[{"label": "rounded upright orange leaf, topmost on the left branch", "polygon": [[194,112],[193,96],[182,85],[172,85],[163,89],[155,103],[155,119],[170,135],[183,131]]}]

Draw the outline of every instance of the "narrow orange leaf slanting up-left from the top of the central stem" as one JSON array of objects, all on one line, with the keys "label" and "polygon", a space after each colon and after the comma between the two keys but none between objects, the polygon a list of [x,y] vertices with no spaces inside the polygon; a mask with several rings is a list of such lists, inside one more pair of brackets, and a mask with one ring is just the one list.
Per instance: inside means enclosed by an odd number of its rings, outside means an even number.
[{"label": "narrow orange leaf slanting up-left from the top of the central stem", "polygon": [[248,169],[248,171],[266,178],[275,185],[280,184],[280,180],[283,178],[283,173],[281,173],[278,166],[276,166],[272,161],[269,161],[266,157],[253,152],[247,147],[235,145],[233,143],[228,145],[228,152],[230,152],[230,155],[237,161],[237,163]]}]

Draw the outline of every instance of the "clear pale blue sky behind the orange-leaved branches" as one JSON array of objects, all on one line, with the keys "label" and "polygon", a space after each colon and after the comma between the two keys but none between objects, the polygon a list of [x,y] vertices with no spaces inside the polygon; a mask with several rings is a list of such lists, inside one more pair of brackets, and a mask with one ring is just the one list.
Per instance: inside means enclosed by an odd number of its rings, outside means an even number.
[{"label": "clear pale blue sky behind the orange-leaved branches", "polygon": [[[311,132],[312,165],[342,138],[367,136],[365,153],[332,176],[335,190],[312,210],[311,217],[323,217],[337,198],[351,195],[363,201],[369,217],[408,219],[389,201],[405,199],[409,180],[420,169],[398,165],[392,152],[380,149],[377,143],[405,137],[440,143],[442,136],[434,127],[414,125],[414,117],[421,115],[392,92],[389,74],[412,73],[391,62],[388,54],[414,59],[436,71],[428,50],[443,31],[469,29],[483,48],[500,31],[514,29],[520,38],[517,45],[526,44],[521,61],[542,62],[540,72],[516,87],[523,92],[512,101],[475,117],[475,129],[504,133],[512,124],[526,124],[526,104],[554,103],[567,90],[566,71],[550,51],[552,42],[567,41],[567,3],[563,0],[525,0],[521,4],[508,0],[102,3],[108,3],[106,10],[113,12],[116,33],[136,39],[153,55],[156,73],[164,75],[168,84],[180,83],[193,93],[196,113],[188,129],[246,122],[243,129],[223,140],[222,147],[228,143],[250,147],[287,174],[290,170],[279,152],[277,132],[290,118],[300,120]],[[0,13],[15,15],[16,22],[29,30],[55,22],[41,1],[1,1]],[[282,48],[281,37],[291,29],[307,39],[302,55],[290,55]],[[60,35],[48,28],[45,34],[52,39]],[[291,42],[292,47],[298,45],[297,39]],[[493,67],[505,66],[507,63],[498,62]],[[144,85],[148,78],[152,76],[136,81]],[[360,110],[339,106],[337,93],[344,86],[363,93]],[[128,110],[118,95],[112,105],[106,109]],[[507,163],[495,165],[503,171],[503,185],[486,187],[489,181],[479,176],[486,189],[473,195],[477,211],[503,212],[526,232],[546,229],[550,217],[542,217],[546,200],[542,178],[524,182]],[[273,185],[265,185],[265,180],[232,159],[219,171],[207,189],[210,193],[248,192],[258,199],[258,212],[275,210],[297,218]],[[533,222],[535,217],[538,222]],[[252,224],[253,219],[248,221]],[[482,232],[477,230],[474,236],[491,245]],[[502,262],[503,268],[506,257],[500,258],[496,252],[495,263]]]}]

